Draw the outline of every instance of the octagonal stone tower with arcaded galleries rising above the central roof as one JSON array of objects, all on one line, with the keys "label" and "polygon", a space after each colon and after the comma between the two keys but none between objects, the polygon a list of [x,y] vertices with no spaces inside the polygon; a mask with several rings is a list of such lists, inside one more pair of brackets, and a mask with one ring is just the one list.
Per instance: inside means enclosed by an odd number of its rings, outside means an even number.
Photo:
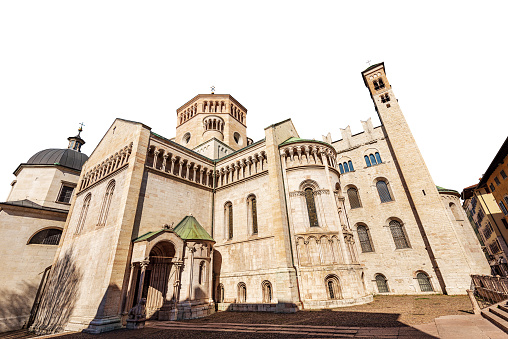
[{"label": "octagonal stone tower with arcaded galleries rising above the central roof", "polygon": [[176,115],[175,141],[187,148],[213,138],[235,151],[247,146],[247,109],[229,94],[198,94]]}]

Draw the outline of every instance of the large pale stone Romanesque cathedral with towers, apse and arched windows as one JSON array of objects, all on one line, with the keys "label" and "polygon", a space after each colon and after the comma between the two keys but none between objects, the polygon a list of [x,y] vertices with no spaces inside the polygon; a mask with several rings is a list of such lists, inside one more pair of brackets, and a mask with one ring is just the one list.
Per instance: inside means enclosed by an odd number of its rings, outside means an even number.
[{"label": "large pale stone Romanesque cathedral with towers, apse and arched windows", "polygon": [[181,320],[465,294],[490,268],[459,194],[433,182],[384,64],[361,74],[381,126],[338,141],[290,119],[253,141],[212,92],[176,110],[174,138],[116,119],[89,158],[80,134],[35,154],[0,203],[1,308],[28,305],[0,329],[100,333],[141,300]]}]

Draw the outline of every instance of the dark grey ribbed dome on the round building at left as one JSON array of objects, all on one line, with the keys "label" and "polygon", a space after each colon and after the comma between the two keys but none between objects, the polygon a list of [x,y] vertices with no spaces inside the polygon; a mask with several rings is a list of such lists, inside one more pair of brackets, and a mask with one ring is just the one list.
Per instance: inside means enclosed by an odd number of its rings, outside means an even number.
[{"label": "dark grey ribbed dome on the round building at left", "polygon": [[88,155],[69,148],[50,148],[35,153],[27,165],[54,165],[59,164],[81,171],[81,167],[88,160]]}]

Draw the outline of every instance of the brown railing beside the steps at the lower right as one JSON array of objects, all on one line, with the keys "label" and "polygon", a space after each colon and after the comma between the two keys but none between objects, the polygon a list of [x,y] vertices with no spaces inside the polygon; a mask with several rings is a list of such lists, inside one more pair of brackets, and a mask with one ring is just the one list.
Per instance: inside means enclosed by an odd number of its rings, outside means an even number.
[{"label": "brown railing beside the steps at the lower right", "polygon": [[508,278],[491,275],[471,275],[471,278],[481,308],[508,299]]}]

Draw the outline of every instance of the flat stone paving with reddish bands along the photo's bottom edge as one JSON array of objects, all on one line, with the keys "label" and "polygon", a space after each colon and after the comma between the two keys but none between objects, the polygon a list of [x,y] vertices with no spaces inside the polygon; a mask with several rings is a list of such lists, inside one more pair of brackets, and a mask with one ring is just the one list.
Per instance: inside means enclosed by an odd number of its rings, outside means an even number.
[{"label": "flat stone paving with reddish bands along the photo's bottom edge", "polygon": [[[276,325],[260,323],[195,323],[187,321],[147,321],[140,330],[120,329],[99,335],[60,333],[35,336],[59,339],[146,339],[146,338],[442,338],[442,339],[507,339],[508,334],[481,315],[448,315],[433,322],[395,327]],[[26,331],[0,334],[3,339],[34,338]]]}]

